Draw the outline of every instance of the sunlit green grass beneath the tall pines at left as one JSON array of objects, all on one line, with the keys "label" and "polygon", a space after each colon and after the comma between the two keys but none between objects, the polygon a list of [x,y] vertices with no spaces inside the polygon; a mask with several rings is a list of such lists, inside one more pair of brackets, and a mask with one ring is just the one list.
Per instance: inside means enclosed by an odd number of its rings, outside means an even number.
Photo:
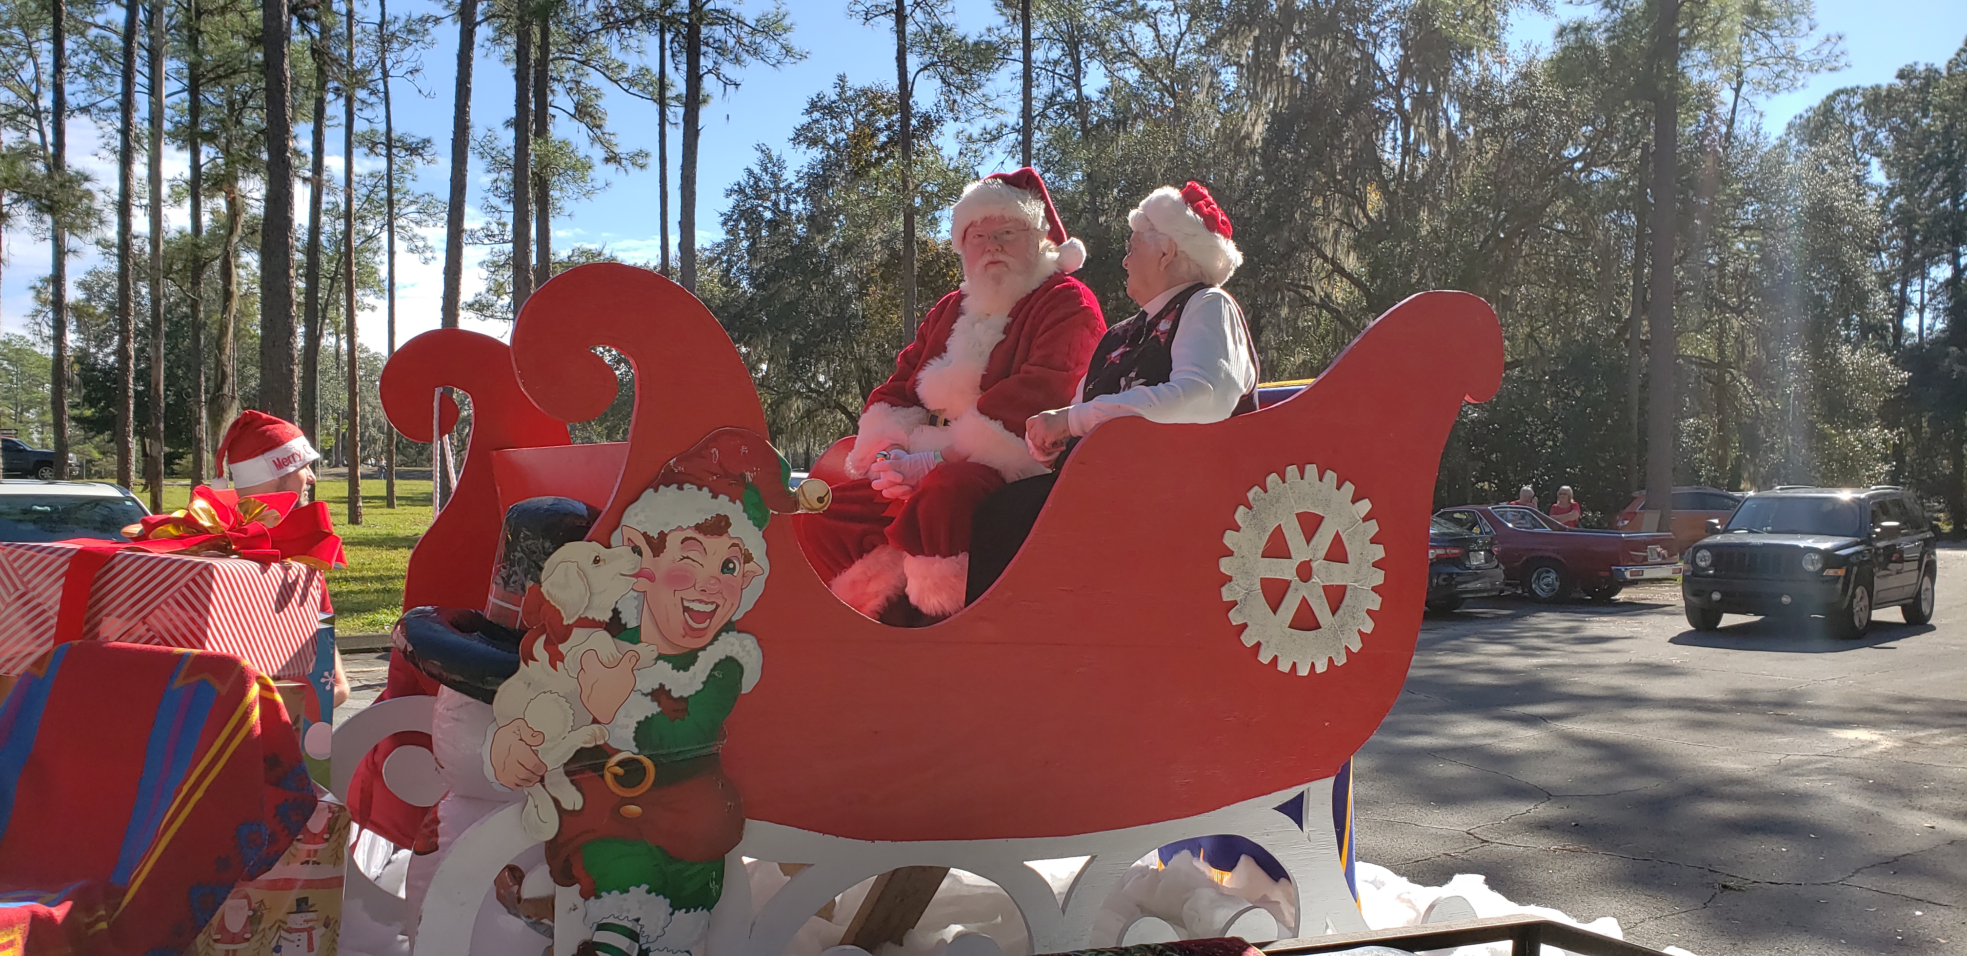
[{"label": "sunlit green grass beneath the tall pines at left", "polygon": [[[142,498],[144,494],[138,492]],[[323,478],[315,496],[328,504],[334,533],[342,535],[348,567],[328,572],[328,594],[334,598],[334,631],[384,633],[403,610],[403,572],[409,568],[409,549],[431,527],[431,482],[397,478],[395,508],[384,508],[382,478],[362,478],[362,523],[348,523],[348,480]],[[185,508],[189,484],[167,484],[163,506]]]}]

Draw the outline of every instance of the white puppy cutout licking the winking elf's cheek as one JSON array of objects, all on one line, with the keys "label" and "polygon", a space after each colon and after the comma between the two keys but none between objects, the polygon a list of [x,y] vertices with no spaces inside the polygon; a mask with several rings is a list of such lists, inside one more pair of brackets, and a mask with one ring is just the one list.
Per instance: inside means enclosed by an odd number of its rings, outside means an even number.
[{"label": "white puppy cutout licking the winking elf's cheek", "polygon": [[[582,805],[580,791],[566,779],[566,761],[576,749],[608,740],[608,728],[596,724],[580,704],[580,657],[596,651],[610,667],[622,659],[620,641],[590,622],[606,622],[614,614],[616,602],[626,598],[635,582],[629,574],[639,568],[641,557],[633,551],[594,541],[561,545],[541,567],[539,590],[561,614],[561,622],[572,629],[565,643],[551,643],[551,633],[537,643],[527,641],[519,655],[519,673],[506,679],[492,696],[494,730],[523,718],[547,738],[537,747],[547,775],[525,789],[521,814],[527,836],[535,840],[547,840],[561,830],[561,814],[555,812],[553,801],[568,810],[578,810]],[[559,663],[553,663],[555,657]]]}]

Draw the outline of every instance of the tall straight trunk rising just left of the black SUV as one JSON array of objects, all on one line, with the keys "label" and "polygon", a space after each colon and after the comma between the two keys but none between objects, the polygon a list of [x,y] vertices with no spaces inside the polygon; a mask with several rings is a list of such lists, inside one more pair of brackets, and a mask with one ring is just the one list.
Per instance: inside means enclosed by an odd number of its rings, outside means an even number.
[{"label": "tall straight trunk rising just left of the black SUV", "polygon": [[1654,0],[1658,22],[1654,41],[1654,104],[1652,104],[1652,289],[1648,311],[1652,319],[1652,348],[1648,362],[1646,403],[1646,508],[1658,511],[1660,531],[1674,529],[1674,458],[1678,452],[1678,415],[1674,368],[1678,336],[1674,334],[1674,226],[1678,212],[1678,149],[1680,149],[1680,0]]}]

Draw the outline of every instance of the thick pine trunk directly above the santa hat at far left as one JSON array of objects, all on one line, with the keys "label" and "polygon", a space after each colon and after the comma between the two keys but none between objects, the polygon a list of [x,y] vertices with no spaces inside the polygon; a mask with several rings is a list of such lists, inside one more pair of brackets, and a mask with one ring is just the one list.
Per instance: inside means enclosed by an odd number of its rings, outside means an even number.
[{"label": "thick pine trunk directly above the santa hat at far left", "polygon": [[293,421],[299,405],[293,348],[293,90],[287,77],[287,0],[262,0],[266,67],[266,209],[260,216],[260,409]]}]

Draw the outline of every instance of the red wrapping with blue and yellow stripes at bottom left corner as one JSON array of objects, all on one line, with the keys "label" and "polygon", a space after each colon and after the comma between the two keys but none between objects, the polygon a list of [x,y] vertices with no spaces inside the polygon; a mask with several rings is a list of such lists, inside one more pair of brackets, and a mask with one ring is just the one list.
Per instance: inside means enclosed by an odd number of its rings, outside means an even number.
[{"label": "red wrapping with blue and yellow stripes at bottom left corner", "polygon": [[0,704],[0,956],[179,952],[313,810],[238,657],[53,647]]}]

